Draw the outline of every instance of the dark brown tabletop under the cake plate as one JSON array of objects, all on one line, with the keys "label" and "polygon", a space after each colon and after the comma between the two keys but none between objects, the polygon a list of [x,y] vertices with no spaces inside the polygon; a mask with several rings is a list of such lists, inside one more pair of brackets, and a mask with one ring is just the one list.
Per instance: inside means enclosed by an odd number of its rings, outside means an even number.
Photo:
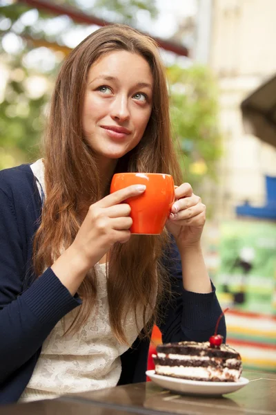
[{"label": "dark brown tabletop under the cake plate", "polygon": [[248,385],[222,397],[184,396],[153,382],[0,407],[0,415],[276,415],[276,374],[244,371]]}]

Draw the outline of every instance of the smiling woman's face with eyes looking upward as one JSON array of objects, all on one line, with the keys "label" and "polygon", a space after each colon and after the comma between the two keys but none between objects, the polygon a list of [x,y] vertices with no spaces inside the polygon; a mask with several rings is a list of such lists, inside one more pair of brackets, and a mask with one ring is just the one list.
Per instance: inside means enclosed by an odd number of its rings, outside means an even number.
[{"label": "smiling woman's face with eyes looking upward", "polygon": [[141,140],[152,111],[153,79],[144,57],[103,55],[88,72],[83,133],[99,158],[117,159]]}]

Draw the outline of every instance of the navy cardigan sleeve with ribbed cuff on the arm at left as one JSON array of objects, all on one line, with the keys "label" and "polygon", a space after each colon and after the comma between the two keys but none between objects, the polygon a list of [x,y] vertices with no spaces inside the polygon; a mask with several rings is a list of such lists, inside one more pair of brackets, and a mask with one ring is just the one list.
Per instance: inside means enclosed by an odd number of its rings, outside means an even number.
[{"label": "navy cardigan sleeve with ribbed cuff on the arm at left", "polygon": [[80,304],[51,268],[22,292],[24,238],[14,203],[0,189],[0,389],[37,352],[55,324]]}]

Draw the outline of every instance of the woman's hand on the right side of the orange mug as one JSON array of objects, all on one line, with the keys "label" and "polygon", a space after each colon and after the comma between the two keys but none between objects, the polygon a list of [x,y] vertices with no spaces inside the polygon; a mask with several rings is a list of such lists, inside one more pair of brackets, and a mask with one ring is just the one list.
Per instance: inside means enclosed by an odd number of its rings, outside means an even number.
[{"label": "woman's hand on the right side of the orange mug", "polygon": [[181,248],[198,245],[206,221],[206,206],[193,194],[189,183],[175,187],[175,203],[166,223],[168,232]]}]

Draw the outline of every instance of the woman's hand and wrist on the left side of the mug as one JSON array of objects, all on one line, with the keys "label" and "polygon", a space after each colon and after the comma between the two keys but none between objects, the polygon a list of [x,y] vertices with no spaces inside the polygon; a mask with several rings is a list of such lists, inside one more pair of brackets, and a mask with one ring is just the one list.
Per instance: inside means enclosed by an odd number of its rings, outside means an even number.
[{"label": "woman's hand and wrist on the left side of the mug", "polygon": [[122,202],[145,190],[145,185],[128,186],[90,205],[72,245],[51,267],[72,295],[88,270],[115,242],[125,243],[130,239],[130,205]]}]

